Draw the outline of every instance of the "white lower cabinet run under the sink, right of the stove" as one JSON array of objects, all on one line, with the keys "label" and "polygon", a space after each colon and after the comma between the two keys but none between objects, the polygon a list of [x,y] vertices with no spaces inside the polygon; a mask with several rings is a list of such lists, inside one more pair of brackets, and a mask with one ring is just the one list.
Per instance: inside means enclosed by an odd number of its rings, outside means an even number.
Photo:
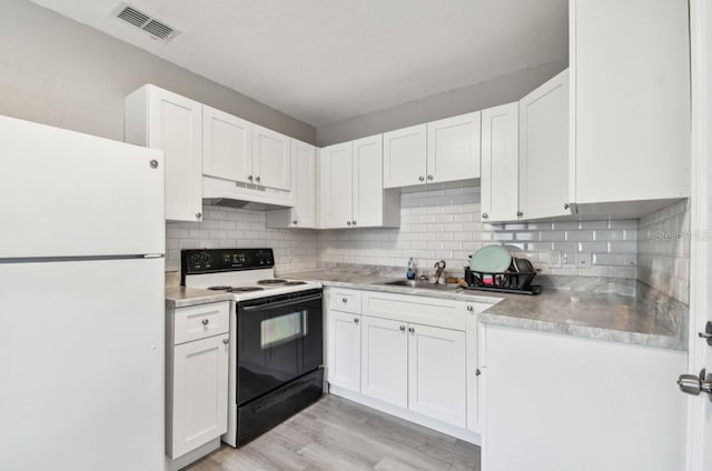
[{"label": "white lower cabinet run under the sink, right of the stove", "polygon": [[332,392],[477,443],[477,313],[491,304],[327,291]]}]

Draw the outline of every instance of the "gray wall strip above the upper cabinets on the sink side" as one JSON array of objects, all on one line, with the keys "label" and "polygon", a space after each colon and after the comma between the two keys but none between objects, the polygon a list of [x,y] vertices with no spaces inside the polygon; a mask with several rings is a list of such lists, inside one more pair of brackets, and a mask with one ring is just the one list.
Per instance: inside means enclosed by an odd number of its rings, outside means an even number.
[{"label": "gray wall strip above the upper cabinets on the sink side", "polygon": [[496,77],[397,107],[374,111],[344,121],[319,126],[318,146],[329,146],[352,139],[392,131],[407,126],[477,111],[510,103],[524,97],[546,80],[568,67],[568,59],[548,62],[508,76]]}]

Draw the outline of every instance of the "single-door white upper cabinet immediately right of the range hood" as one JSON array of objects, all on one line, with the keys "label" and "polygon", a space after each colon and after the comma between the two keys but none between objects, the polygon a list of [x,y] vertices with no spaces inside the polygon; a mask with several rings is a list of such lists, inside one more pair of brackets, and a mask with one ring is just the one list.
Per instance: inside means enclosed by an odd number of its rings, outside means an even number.
[{"label": "single-door white upper cabinet immediately right of the range hood", "polygon": [[291,140],[291,192],[294,208],[267,211],[267,227],[316,228],[316,148]]}]

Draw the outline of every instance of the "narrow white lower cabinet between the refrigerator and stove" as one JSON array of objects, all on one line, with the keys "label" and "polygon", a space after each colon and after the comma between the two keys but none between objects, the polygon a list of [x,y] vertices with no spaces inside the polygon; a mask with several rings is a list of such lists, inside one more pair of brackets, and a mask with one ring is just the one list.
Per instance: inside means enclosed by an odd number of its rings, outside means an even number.
[{"label": "narrow white lower cabinet between the refrigerator and stove", "polygon": [[167,310],[166,454],[174,460],[227,432],[229,309],[219,302]]}]

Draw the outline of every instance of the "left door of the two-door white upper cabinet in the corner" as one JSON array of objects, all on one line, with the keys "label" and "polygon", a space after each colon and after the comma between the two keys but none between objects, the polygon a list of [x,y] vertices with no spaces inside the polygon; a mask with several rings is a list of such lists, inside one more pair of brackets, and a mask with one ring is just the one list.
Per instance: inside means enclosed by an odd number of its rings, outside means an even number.
[{"label": "left door of the two-door white upper cabinet in the corner", "polygon": [[320,151],[319,170],[322,227],[350,227],[353,200],[352,143],[325,147]]}]

